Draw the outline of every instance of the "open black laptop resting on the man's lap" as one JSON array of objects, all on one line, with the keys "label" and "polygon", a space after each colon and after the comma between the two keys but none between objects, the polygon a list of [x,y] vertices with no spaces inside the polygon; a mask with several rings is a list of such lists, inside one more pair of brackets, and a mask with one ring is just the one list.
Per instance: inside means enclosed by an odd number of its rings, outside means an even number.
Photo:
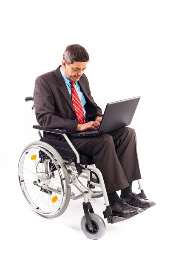
[{"label": "open black laptop resting on the man's lap", "polygon": [[139,103],[139,99],[140,96],[137,96],[130,99],[123,99],[108,103],[98,130],[91,129],[83,132],[77,131],[75,134],[71,134],[71,136],[97,136],[130,125]]}]

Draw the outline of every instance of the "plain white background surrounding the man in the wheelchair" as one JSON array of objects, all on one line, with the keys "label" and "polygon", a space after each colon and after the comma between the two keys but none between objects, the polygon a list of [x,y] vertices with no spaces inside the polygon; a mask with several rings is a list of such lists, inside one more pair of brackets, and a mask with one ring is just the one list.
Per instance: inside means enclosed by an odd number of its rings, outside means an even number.
[{"label": "plain white background surrounding the man in the wheelchair", "polygon": [[[1,247],[2,255],[168,255],[170,2],[6,1],[0,6]],[[91,61],[85,74],[95,102],[141,96],[136,130],[144,191],[156,206],[118,224],[97,241],[82,233],[82,201],[59,218],[36,215],[21,192],[17,164],[39,140],[32,96],[37,76],[55,70],[68,44],[81,44]],[[133,190],[139,192],[137,182]],[[102,216],[103,198],[91,201]]]}]

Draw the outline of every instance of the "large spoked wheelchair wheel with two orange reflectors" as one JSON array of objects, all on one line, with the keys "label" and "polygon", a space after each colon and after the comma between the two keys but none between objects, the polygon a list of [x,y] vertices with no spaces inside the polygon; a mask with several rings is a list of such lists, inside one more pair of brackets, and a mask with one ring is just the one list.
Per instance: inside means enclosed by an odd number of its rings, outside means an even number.
[{"label": "large spoked wheelchair wheel with two orange reflectors", "polygon": [[28,203],[38,214],[56,218],[68,207],[70,177],[60,154],[47,143],[36,141],[23,150],[18,176]]}]

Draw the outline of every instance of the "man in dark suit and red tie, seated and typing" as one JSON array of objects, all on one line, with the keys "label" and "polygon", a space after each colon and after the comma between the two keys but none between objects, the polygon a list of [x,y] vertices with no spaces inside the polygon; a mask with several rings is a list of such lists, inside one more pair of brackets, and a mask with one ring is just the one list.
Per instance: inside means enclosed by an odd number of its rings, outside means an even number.
[{"label": "man in dark suit and red tie, seated and typing", "polygon": [[[102,121],[102,110],[94,102],[83,73],[88,61],[84,47],[68,45],[62,65],[37,77],[34,88],[37,122],[43,128],[65,129],[79,153],[93,157],[102,172],[113,214],[130,217],[154,205],[132,192],[133,180],[141,179],[135,131],[125,127],[96,137],[71,137],[76,131],[98,129]],[[64,140],[59,134],[46,133],[46,137]]]}]

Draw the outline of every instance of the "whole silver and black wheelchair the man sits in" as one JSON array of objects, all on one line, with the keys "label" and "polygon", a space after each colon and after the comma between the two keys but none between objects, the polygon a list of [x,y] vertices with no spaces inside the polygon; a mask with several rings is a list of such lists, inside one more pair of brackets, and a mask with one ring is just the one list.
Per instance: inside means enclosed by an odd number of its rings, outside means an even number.
[{"label": "whole silver and black wheelchair the man sits in", "polygon": [[[31,100],[34,98],[26,97],[26,101]],[[81,229],[90,239],[100,239],[105,234],[105,222],[94,213],[91,198],[104,197],[103,216],[108,223],[125,220],[112,214],[102,173],[96,168],[93,157],[80,155],[65,129],[44,129],[40,125],[33,125],[33,128],[38,130],[40,140],[24,148],[18,164],[20,186],[32,209],[45,218],[56,218],[65,212],[70,199],[84,197],[82,205],[85,215],[81,220]],[[66,142],[48,139],[45,132],[62,134]],[[142,180],[138,183],[141,190],[138,195],[146,199]],[[71,192],[72,186],[81,194],[76,196],[75,192]]]}]

